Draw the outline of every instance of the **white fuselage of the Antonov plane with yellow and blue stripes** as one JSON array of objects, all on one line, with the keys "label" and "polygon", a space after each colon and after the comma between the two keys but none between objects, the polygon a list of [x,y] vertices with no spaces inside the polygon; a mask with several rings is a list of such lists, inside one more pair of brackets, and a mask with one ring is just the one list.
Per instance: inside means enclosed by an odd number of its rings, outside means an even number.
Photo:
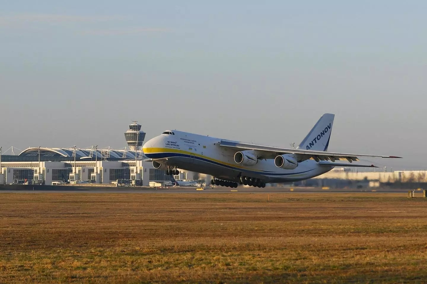
[{"label": "white fuselage of the Antonov plane with yellow and blue stripes", "polygon": [[191,172],[199,172],[228,181],[238,181],[240,177],[260,178],[265,183],[301,181],[322,175],[333,166],[320,165],[306,160],[295,169],[282,169],[274,164],[274,159],[258,160],[253,166],[243,166],[234,162],[236,150],[219,146],[221,139],[181,131],[170,131],[147,141],[143,152],[161,164],[162,169],[177,167]]}]

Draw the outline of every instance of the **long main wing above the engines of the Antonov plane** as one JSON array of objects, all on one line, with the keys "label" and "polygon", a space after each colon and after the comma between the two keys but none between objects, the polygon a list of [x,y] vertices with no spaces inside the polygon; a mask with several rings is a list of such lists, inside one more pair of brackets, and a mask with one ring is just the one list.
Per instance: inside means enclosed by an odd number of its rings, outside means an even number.
[{"label": "long main wing above the engines of the Antonov plane", "polygon": [[242,143],[230,140],[221,140],[219,145],[222,147],[232,148],[237,151],[242,150],[254,150],[257,152],[259,159],[271,159],[277,155],[283,154],[298,154],[298,160],[304,161],[313,159],[319,161],[333,161],[336,160],[347,160],[350,163],[353,161],[360,161],[359,158],[401,158],[396,156],[382,156],[382,155],[363,155],[363,154],[347,154],[347,153],[335,153],[335,152],[323,152],[323,151],[311,151],[304,149],[289,149],[279,148],[272,146],[263,146],[252,143]]}]

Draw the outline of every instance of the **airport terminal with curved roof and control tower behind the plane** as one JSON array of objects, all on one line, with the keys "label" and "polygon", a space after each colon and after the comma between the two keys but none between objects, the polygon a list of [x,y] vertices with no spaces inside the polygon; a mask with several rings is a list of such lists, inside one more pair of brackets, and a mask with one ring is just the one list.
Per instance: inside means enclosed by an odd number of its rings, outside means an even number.
[{"label": "airport terminal with curved roof and control tower behind the plane", "polygon": [[[88,181],[111,184],[131,180],[149,186],[150,182],[170,181],[166,171],[154,169],[152,162],[139,150],[145,138],[140,124],[129,125],[125,138],[130,149],[91,149],[30,147],[19,155],[3,155],[0,161],[0,184],[70,183]],[[177,179],[185,179],[181,172]]]}]

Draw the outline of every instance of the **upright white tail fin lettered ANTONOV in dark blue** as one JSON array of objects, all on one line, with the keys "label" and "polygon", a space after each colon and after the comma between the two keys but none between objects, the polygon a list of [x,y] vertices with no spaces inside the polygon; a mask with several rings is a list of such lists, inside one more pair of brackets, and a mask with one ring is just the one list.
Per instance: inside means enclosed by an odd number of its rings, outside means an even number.
[{"label": "upright white tail fin lettered ANTONOV in dark blue", "polygon": [[297,149],[327,151],[334,117],[331,113],[322,115]]}]

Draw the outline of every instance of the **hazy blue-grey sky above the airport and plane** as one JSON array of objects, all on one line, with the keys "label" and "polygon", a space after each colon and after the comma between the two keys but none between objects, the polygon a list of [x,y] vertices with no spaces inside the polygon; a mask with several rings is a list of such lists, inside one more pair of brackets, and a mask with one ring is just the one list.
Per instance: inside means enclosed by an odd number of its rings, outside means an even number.
[{"label": "hazy blue-grey sky above the airport and plane", "polygon": [[166,129],[427,167],[426,1],[1,1],[0,146]]}]

